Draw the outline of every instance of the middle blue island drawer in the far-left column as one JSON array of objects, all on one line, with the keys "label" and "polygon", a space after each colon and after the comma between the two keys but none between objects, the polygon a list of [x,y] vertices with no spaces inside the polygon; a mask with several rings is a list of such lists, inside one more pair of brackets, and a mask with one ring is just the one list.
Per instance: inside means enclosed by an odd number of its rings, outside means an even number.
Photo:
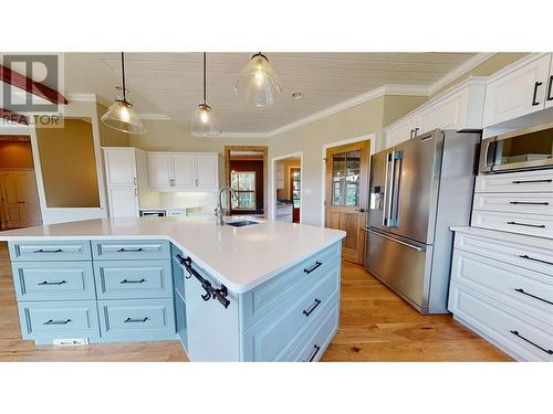
[{"label": "middle blue island drawer in the far-left column", "polygon": [[13,262],[18,300],[96,299],[91,262]]}]

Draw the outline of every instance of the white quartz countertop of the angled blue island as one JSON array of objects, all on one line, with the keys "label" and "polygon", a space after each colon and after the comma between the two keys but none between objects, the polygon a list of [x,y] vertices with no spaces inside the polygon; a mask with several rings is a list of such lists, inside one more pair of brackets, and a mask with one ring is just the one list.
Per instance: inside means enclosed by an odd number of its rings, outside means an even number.
[{"label": "white quartz countertop of the angled blue island", "polygon": [[97,219],[0,232],[0,241],[168,240],[236,293],[252,289],[343,237],[343,231],[279,221],[218,226],[215,216]]}]

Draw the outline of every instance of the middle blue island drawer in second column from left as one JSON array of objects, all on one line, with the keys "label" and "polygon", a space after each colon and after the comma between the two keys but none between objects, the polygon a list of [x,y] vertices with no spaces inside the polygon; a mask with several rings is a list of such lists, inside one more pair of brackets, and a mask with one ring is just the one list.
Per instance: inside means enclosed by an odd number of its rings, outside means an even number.
[{"label": "middle blue island drawer in second column from left", "polygon": [[98,299],[173,297],[170,262],[94,262]]}]

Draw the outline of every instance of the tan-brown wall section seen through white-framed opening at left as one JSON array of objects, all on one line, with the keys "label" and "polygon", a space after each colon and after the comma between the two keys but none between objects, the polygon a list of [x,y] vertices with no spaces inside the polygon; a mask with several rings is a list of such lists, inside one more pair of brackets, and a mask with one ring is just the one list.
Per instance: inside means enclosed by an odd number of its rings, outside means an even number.
[{"label": "tan-brown wall section seen through white-framed opening at left", "polygon": [[63,128],[36,128],[49,208],[98,208],[92,125],[65,119]]}]

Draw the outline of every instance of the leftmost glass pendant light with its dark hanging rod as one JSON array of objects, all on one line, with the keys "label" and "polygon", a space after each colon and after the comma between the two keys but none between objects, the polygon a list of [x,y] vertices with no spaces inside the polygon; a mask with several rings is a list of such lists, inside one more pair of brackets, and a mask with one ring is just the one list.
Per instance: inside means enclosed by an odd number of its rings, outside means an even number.
[{"label": "leftmost glass pendant light with its dark hanging rod", "polygon": [[117,91],[119,91],[119,95],[115,98],[113,105],[109,106],[109,108],[101,119],[108,127],[121,130],[123,132],[145,134],[146,128],[144,128],[138,114],[136,114],[133,108],[133,105],[127,100],[124,57],[125,56],[123,52],[121,52],[122,86],[115,87]]}]

